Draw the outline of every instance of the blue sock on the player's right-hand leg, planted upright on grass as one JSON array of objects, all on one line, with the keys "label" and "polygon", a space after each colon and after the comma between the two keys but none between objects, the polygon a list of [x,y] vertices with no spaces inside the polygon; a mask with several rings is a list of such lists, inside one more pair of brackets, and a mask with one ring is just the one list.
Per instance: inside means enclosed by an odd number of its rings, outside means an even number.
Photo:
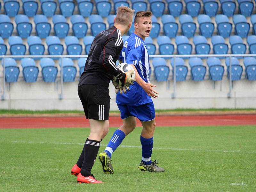
[{"label": "blue sock on the player's right-hand leg, planted upright on grass", "polygon": [[153,137],[146,139],[140,135],[140,143],[141,143],[141,148],[142,148],[142,158],[141,161],[149,165],[152,163],[151,161],[151,154],[153,150]]}]

